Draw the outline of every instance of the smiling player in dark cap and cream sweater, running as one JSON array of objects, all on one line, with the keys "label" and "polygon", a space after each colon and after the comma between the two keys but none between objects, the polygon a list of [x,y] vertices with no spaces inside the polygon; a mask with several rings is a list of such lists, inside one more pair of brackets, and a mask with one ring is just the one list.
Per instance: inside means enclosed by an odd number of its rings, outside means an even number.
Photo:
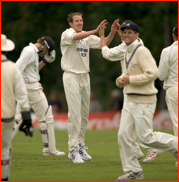
[{"label": "smiling player in dark cap and cream sweater, running", "polygon": [[[102,27],[105,27],[102,24]],[[104,28],[103,28],[104,29]],[[150,51],[139,41],[139,26],[133,22],[121,27],[127,46],[124,55],[124,71],[117,79],[120,88],[125,87],[127,99],[123,106],[118,143],[123,171],[117,180],[143,179],[143,170],[133,152],[133,140],[151,148],[170,151],[178,159],[178,138],[162,132],[153,132],[153,114],[157,89],[154,80],[158,69]]]}]

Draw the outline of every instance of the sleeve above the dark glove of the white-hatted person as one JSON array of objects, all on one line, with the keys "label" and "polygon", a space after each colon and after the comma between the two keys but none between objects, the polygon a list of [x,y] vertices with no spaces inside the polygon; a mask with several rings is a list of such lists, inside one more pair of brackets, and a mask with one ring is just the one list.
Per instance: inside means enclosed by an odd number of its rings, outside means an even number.
[{"label": "sleeve above the dark glove of the white-hatted person", "polygon": [[20,105],[21,110],[22,111],[30,110],[28,96],[27,96],[27,89],[22,74],[17,67],[16,67],[14,91],[15,91],[16,101]]}]

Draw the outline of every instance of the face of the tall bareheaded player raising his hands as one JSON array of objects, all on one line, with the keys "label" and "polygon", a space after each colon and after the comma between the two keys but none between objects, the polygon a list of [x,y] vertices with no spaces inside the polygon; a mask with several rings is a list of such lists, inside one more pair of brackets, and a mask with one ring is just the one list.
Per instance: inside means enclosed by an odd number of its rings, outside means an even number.
[{"label": "face of the tall bareheaded player raising his hands", "polygon": [[79,15],[73,16],[73,22],[70,22],[69,24],[76,32],[81,32],[83,30],[83,18]]}]

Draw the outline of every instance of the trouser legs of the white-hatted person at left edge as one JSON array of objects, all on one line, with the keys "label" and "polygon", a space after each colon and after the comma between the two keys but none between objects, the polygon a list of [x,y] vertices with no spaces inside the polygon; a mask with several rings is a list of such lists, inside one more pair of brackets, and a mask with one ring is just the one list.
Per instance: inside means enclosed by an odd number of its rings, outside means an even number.
[{"label": "trouser legs of the white-hatted person at left edge", "polygon": [[1,122],[1,179],[9,178],[11,167],[11,136],[14,121]]}]

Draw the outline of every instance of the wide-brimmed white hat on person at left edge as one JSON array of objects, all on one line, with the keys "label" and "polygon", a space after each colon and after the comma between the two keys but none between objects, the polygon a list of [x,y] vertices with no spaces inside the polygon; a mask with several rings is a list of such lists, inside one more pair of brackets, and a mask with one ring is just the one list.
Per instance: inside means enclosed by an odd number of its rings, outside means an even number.
[{"label": "wide-brimmed white hat on person at left edge", "polygon": [[6,35],[1,34],[1,51],[12,51],[14,48],[14,42],[10,39],[7,39]]}]

